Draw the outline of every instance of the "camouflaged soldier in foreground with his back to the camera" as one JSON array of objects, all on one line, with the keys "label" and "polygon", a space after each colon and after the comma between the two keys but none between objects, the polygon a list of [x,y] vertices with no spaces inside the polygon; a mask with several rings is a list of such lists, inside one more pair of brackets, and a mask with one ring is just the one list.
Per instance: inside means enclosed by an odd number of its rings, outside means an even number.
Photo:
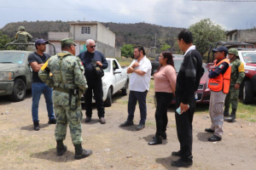
[{"label": "camouflaged soldier in foreground with his back to the camera", "polygon": [[81,159],[92,154],[91,150],[82,148],[81,120],[83,114],[80,97],[86,91],[84,66],[81,60],[74,56],[76,50],[73,38],[62,39],[61,50],[61,53],[48,59],[38,75],[49,87],[54,88],[53,102],[57,119],[55,127],[57,156],[62,156],[67,150],[63,140],[66,139],[68,123],[75,147],[74,158]]}]

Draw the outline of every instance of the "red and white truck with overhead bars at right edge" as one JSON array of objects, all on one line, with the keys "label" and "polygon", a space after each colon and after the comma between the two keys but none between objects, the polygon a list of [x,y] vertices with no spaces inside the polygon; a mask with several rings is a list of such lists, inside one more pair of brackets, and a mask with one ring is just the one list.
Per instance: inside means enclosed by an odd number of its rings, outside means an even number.
[{"label": "red and white truck with overhead bars at right edge", "polygon": [[212,48],[225,46],[226,48],[237,48],[241,62],[244,64],[245,77],[240,85],[239,95],[244,104],[252,104],[256,95],[256,48],[253,44],[245,42],[214,42],[209,48],[207,58],[207,69],[212,69]]}]

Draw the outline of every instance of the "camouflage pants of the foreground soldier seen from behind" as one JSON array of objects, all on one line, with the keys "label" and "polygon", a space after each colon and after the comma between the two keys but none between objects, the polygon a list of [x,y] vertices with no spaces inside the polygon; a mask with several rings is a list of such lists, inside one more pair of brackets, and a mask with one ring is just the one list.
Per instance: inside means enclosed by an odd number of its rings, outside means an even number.
[{"label": "camouflage pants of the foreground soldier seen from behind", "polygon": [[55,117],[57,119],[55,127],[55,139],[64,140],[67,134],[67,124],[70,129],[73,144],[81,144],[82,139],[82,125],[83,118],[81,105],[77,110],[70,110],[69,105],[54,105]]}]

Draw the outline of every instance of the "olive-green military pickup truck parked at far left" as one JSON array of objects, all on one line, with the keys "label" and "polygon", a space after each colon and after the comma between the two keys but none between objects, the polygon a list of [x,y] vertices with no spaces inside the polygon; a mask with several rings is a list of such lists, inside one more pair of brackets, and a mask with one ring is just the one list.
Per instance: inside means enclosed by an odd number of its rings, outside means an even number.
[{"label": "olive-green military pickup truck parked at far left", "polygon": [[[35,46],[34,42],[11,42],[4,49],[10,45]],[[0,51],[0,96],[9,95],[13,101],[25,99],[26,90],[32,88],[32,68],[27,61],[28,55],[32,53],[23,50]]]}]

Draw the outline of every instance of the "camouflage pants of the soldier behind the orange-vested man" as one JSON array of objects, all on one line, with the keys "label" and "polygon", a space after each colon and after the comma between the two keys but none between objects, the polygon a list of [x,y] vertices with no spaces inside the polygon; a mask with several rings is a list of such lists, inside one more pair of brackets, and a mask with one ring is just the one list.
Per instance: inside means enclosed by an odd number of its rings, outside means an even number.
[{"label": "camouflage pants of the soldier behind the orange-vested man", "polygon": [[230,85],[230,92],[225,99],[225,111],[230,110],[230,104],[232,109],[237,109],[239,89],[235,89],[235,85]]}]

